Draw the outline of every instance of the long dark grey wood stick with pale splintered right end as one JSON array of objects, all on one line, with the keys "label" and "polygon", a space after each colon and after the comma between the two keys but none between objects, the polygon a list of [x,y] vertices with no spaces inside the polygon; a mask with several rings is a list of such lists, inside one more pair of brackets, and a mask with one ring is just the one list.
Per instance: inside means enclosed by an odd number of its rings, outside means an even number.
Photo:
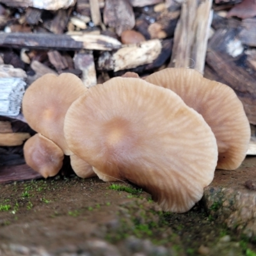
[{"label": "long dark grey wood stick with pale splintered right end", "polygon": [[121,43],[115,38],[104,35],[54,35],[50,33],[0,33],[0,47],[28,49],[61,50],[99,50],[119,49]]}]

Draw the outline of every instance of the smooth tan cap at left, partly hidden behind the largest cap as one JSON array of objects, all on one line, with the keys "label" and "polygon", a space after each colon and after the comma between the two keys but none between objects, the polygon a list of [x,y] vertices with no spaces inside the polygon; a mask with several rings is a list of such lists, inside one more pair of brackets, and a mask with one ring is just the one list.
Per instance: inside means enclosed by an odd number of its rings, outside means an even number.
[{"label": "smooth tan cap at left, partly hidden behind the largest cap", "polygon": [[70,104],[86,90],[74,74],[46,74],[29,86],[22,100],[22,111],[31,128],[54,141],[66,155],[72,152],[63,134],[64,117]]}]

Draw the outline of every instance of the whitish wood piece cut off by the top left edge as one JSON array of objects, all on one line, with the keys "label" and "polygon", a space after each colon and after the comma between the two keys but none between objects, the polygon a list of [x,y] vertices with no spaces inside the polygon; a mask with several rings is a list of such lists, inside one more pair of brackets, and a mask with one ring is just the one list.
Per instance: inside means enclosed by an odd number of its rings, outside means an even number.
[{"label": "whitish wood piece cut off by the top left edge", "polygon": [[35,7],[38,9],[52,10],[56,11],[61,8],[68,8],[69,6],[74,6],[76,0],[1,0],[0,3],[6,4],[12,7]]}]

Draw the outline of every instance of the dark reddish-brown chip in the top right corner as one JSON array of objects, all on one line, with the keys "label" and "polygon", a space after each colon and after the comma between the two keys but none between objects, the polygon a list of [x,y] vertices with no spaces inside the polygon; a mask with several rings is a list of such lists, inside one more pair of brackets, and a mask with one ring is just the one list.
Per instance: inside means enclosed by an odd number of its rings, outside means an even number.
[{"label": "dark reddish-brown chip in the top right corner", "polygon": [[243,0],[240,4],[236,4],[228,13],[227,18],[236,16],[241,19],[248,19],[256,16],[255,0]]}]

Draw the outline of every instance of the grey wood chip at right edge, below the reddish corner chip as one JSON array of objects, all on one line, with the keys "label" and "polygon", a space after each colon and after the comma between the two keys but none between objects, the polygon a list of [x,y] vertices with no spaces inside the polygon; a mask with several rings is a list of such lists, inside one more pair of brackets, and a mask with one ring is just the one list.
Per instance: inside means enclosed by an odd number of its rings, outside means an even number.
[{"label": "grey wood chip at right edge, below the reddish corner chip", "polygon": [[256,18],[242,20],[239,39],[243,44],[256,47]]}]

